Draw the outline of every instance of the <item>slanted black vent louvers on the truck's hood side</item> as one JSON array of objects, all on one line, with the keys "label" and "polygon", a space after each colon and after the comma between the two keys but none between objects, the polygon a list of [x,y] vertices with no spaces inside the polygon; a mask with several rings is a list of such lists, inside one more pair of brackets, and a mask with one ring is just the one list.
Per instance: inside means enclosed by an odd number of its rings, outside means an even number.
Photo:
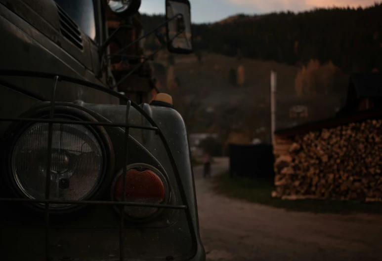
[{"label": "slanted black vent louvers on the truck's hood side", "polygon": [[60,16],[60,31],[61,34],[67,38],[71,43],[76,45],[81,50],[84,49],[82,44],[81,32],[78,25],[70,18],[69,15],[58,5],[58,15]]}]

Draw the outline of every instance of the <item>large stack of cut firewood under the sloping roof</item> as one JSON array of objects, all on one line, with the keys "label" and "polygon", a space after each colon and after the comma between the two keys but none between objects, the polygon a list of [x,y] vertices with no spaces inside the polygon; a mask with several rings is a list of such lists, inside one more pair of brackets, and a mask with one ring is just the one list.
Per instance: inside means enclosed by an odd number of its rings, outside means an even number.
[{"label": "large stack of cut firewood under the sloping roof", "polygon": [[275,162],[274,197],[382,199],[382,120],[297,136]]}]

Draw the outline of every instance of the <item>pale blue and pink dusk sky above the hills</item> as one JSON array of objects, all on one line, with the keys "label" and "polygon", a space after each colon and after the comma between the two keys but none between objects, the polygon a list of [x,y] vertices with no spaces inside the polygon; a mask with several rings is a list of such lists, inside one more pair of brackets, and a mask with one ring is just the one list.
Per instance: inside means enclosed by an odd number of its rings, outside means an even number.
[{"label": "pale blue and pink dusk sky above the hills", "polygon": [[[190,0],[190,2],[192,21],[209,23],[237,13],[263,14],[287,10],[298,12],[314,7],[332,6],[366,7],[373,5],[376,0]],[[142,0],[139,11],[147,14],[165,13],[165,0]]]}]

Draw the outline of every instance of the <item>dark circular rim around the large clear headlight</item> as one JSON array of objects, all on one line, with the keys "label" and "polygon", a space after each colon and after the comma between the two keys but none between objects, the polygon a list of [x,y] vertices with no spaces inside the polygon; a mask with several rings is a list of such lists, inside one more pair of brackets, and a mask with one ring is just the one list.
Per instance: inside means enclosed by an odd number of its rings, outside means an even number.
[{"label": "dark circular rim around the large clear headlight", "polygon": [[[21,115],[22,118],[28,118],[28,119],[36,119],[32,122],[26,122],[25,121],[18,121],[13,122],[13,124],[8,128],[8,131],[4,135],[5,139],[3,145],[4,148],[9,148],[9,150],[3,155],[3,159],[6,160],[4,162],[3,166],[5,166],[4,173],[5,175],[5,182],[9,185],[6,188],[9,188],[9,193],[13,195],[17,195],[18,197],[25,197],[26,194],[22,191],[20,191],[20,186],[16,184],[15,179],[13,178],[15,173],[12,173],[12,152],[14,149],[15,144],[19,140],[20,136],[23,135],[25,131],[27,131],[33,124],[37,124],[38,120],[41,119],[43,121],[47,120],[47,117],[49,116],[49,103],[42,103],[36,107],[33,107],[29,111],[23,113]],[[111,182],[114,174],[114,162],[115,162],[115,156],[114,156],[114,149],[112,142],[106,132],[106,130],[100,126],[100,125],[79,125],[76,123],[76,121],[89,121],[89,122],[98,122],[94,117],[90,115],[89,112],[86,112],[84,108],[80,106],[76,106],[73,104],[68,103],[56,103],[54,108],[54,115],[55,118],[59,117],[60,120],[65,120],[65,124],[74,124],[77,126],[84,126],[91,134],[96,138],[96,141],[98,142],[98,145],[100,146],[101,153],[102,153],[102,171],[101,171],[101,178],[99,180],[99,183],[90,191],[84,198],[84,200],[87,199],[96,199],[97,195],[105,191],[106,189],[109,189],[108,184]],[[54,119],[54,118],[53,118]],[[8,190],[9,190],[8,189]],[[59,204],[59,203],[57,203]],[[40,211],[43,210],[43,206],[41,203],[33,203],[32,204],[25,204],[28,207],[32,207],[34,211]],[[59,207],[56,210],[51,210],[52,214],[65,214],[65,213],[71,213],[73,211],[76,211],[85,205],[75,205],[75,204],[69,204],[69,206],[66,207]]]}]

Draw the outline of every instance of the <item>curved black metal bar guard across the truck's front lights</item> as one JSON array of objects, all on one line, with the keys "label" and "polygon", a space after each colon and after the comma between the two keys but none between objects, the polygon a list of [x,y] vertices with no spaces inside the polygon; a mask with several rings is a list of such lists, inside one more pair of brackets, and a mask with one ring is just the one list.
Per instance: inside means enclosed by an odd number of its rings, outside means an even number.
[{"label": "curved black metal bar guard across the truck's front lights", "polygon": [[[47,169],[47,175],[46,175],[46,184],[45,184],[45,199],[38,200],[38,199],[28,199],[28,198],[0,198],[0,202],[24,202],[24,203],[44,203],[45,204],[45,218],[46,218],[46,226],[45,226],[45,259],[49,260],[49,204],[57,204],[57,203],[67,203],[67,204],[82,204],[82,205],[114,205],[119,206],[121,208],[121,222],[119,226],[119,236],[120,236],[120,260],[125,260],[124,257],[124,237],[123,237],[123,228],[124,228],[124,216],[125,211],[123,211],[124,206],[141,206],[141,207],[156,207],[156,208],[170,208],[170,209],[183,209],[186,213],[188,228],[191,233],[191,251],[189,258],[192,258],[196,255],[197,251],[197,238],[196,238],[196,231],[195,227],[192,222],[191,212],[190,208],[187,202],[186,193],[184,190],[184,187],[182,185],[182,182],[180,180],[179,172],[176,167],[176,163],[174,160],[174,157],[171,153],[170,147],[168,143],[166,142],[165,136],[163,135],[162,131],[158,127],[158,125],[154,122],[154,120],[145,112],[143,109],[141,109],[136,103],[130,101],[126,96],[113,91],[107,87],[91,83],[89,81],[80,80],[73,77],[68,77],[65,75],[57,75],[57,74],[50,74],[50,73],[41,73],[41,72],[31,72],[31,71],[20,71],[20,70],[0,70],[0,76],[26,76],[26,77],[38,77],[38,78],[45,78],[45,79],[53,79],[53,84],[51,88],[51,96],[50,96],[50,114],[49,119],[34,119],[34,118],[6,118],[6,117],[0,117],[0,121],[23,121],[23,122],[43,122],[43,123],[49,123],[49,129],[48,129],[48,148],[47,148],[47,159],[46,159],[46,169]],[[109,95],[113,95],[114,97],[123,99],[127,102],[126,105],[126,121],[125,123],[111,123],[111,122],[92,122],[92,121],[82,121],[82,120],[59,120],[54,119],[54,103],[55,103],[55,91],[57,87],[57,82],[59,81],[67,81],[72,82],[80,85],[84,85],[86,87],[96,89],[99,91],[103,91]],[[16,86],[12,86],[7,84],[6,87],[22,92],[24,94],[28,94],[26,91],[20,90]],[[29,94],[28,94],[29,95]],[[133,107],[136,109],[139,113],[141,113],[147,121],[152,125],[152,127],[149,126],[143,126],[143,125],[131,125],[129,124],[129,111],[130,107]],[[124,127],[125,128],[125,151],[124,151],[124,173],[127,172],[127,152],[128,152],[128,136],[129,136],[129,129],[146,129],[146,130],[152,130],[155,131],[159,137],[162,140],[162,143],[166,149],[167,154],[170,158],[171,167],[173,170],[173,173],[175,175],[176,183],[179,188],[180,196],[182,199],[182,202],[184,205],[168,205],[168,204],[150,204],[150,203],[136,203],[136,202],[126,202],[125,201],[125,189],[126,189],[126,175],[123,175],[123,183],[125,186],[123,186],[123,199],[122,201],[95,201],[95,200],[83,200],[83,201],[77,201],[77,200],[52,200],[49,199],[49,177],[50,177],[50,165],[51,165],[51,157],[49,156],[51,154],[52,149],[52,128],[53,123],[69,123],[69,124],[81,124],[81,125],[100,125],[100,126],[113,126],[113,127]]]}]

